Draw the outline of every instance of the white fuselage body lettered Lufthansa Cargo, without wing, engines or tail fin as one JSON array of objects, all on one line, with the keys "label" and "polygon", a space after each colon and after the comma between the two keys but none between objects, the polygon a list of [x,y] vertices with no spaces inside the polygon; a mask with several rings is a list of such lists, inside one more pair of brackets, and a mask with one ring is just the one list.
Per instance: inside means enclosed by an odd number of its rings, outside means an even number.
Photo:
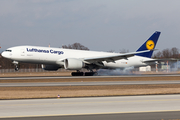
[{"label": "white fuselage body lettered Lufthansa Cargo, without wing, engines or tail fin", "polygon": [[[119,53],[72,50],[38,46],[17,46],[9,48],[8,51],[4,51],[2,53],[2,56],[18,62],[49,64],[64,67],[63,60],[67,58],[76,58],[83,60],[86,58],[101,57],[106,55],[110,56],[117,54]],[[103,61],[103,64],[104,68],[126,68],[131,66],[139,67],[147,66],[146,63],[143,63],[143,61],[145,60],[152,59],[135,55],[133,57],[129,57],[128,59],[120,59],[115,62]]]}]

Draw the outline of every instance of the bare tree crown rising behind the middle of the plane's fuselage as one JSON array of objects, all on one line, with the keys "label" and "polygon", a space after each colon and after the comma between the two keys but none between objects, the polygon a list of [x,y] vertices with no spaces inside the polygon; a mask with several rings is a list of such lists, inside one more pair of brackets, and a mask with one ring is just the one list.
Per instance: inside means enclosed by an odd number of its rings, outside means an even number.
[{"label": "bare tree crown rising behind the middle of the plane's fuselage", "polygon": [[87,47],[85,47],[84,45],[81,45],[80,43],[63,45],[62,48],[65,48],[65,49],[77,49],[77,50],[89,50]]}]

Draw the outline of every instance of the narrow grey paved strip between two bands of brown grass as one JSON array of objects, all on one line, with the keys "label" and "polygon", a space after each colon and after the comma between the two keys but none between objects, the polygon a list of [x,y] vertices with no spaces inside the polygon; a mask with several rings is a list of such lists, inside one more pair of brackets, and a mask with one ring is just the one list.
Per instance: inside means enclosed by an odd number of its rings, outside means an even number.
[{"label": "narrow grey paved strip between two bands of brown grass", "polygon": [[152,85],[180,84],[180,80],[169,81],[101,81],[101,82],[36,82],[36,83],[1,83],[0,87],[37,87],[37,86],[98,86],[98,85]]}]

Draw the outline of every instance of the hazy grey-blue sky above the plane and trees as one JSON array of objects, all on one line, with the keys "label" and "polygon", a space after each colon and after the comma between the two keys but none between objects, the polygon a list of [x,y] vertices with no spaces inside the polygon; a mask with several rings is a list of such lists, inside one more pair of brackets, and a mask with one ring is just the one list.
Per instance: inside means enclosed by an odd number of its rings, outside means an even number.
[{"label": "hazy grey-blue sky above the plane and trees", "polygon": [[156,49],[180,44],[180,0],[0,0],[0,46],[136,51],[155,31]]}]

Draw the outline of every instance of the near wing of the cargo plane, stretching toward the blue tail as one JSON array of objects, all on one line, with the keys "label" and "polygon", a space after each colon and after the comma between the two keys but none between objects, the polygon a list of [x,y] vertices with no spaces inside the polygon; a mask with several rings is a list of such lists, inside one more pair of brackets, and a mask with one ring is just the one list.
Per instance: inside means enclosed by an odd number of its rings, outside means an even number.
[{"label": "near wing of the cargo plane, stretching toward the blue tail", "polygon": [[102,61],[106,61],[106,62],[115,62],[116,60],[120,60],[120,59],[128,59],[129,57],[132,57],[136,54],[139,53],[145,53],[145,52],[149,52],[151,50],[145,50],[145,51],[139,51],[139,52],[131,52],[131,53],[125,53],[125,54],[116,54],[116,55],[111,55],[111,56],[101,56],[101,57],[94,57],[94,58],[85,58],[83,59],[83,62],[85,63],[99,63]]}]

